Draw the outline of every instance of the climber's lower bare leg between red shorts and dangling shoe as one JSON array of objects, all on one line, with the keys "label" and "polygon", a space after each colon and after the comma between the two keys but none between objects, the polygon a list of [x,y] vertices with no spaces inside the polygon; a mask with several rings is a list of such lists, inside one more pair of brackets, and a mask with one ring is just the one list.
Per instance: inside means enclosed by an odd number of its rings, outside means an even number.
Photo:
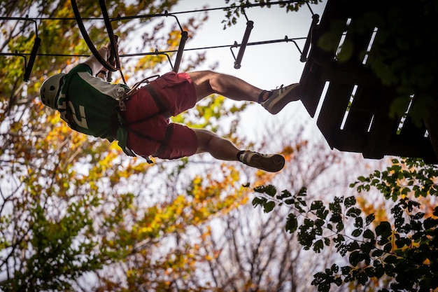
[{"label": "climber's lower bare leg between red shorts and dangling shoe", "polygon": [[207,130],[193,129],[198,139],[197,153],[210,153],[219,160],[236,161],[239,149],[231,141]]}]

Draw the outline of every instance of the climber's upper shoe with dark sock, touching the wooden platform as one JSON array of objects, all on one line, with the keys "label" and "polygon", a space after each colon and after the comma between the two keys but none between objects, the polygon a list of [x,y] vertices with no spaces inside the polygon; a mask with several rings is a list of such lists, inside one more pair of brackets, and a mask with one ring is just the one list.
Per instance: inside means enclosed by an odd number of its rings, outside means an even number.
[{"label": "climber's upper shoe with dark sock, touching the wooden platform", "polygon": [[[288,86],[281,86],[281,88],[274,89],[271,92],[269,92],[268,99],[265,101],[260,101],[260,104],[264,107],[264,109],[267,109],[269,113],[272,113],[275,115],[283,107],[286,106],[289,102],[293,102],[295,100],[298,100],[298,88],[299,83],[294,83]],[[260,97],[265,93],[266,91],[263,91]]]}]

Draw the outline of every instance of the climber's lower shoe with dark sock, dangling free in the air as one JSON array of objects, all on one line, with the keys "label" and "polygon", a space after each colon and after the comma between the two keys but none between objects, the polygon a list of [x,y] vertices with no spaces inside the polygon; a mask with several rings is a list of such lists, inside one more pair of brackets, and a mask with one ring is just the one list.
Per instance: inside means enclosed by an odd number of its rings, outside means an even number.
[{"label": "climber's lower shoe with dark sock, dangling free in the air", "polygon": [[246,165],[267,172],[279,172],[285,164],[283,156],[279,154],[260,154],[253,151],[244,151],[239,160]]}]

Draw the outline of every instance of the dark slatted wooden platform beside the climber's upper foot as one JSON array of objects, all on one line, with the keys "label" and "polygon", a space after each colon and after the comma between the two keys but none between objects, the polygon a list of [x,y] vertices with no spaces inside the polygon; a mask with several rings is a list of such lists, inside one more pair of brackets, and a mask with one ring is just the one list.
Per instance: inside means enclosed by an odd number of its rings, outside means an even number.
[{"label": "dark slatted wooden platform beside the climber's upper foot", "polygon": [[[377,9],[388,9],[391,1],[379,1]],[[320,49],[316,43],[329,31],[333,21],[355,22],[370,1],[328,0],[318,25],[309,33],[311,49],[300,83],[300,97],[331,148],[362,153],[365,158],[384,155],[424,158],[438,163],[426,127],[417,127],[407,118],[404,123],[390,118],[389,109],[396,92],[381,84],[363,60],[351,58],[338,62],[336,52]],[[376,29],[365,34],[342,32],[337,36],[354,43],[353,55],[367,50]],[[346,118],[345,118],[346,116]]]}]

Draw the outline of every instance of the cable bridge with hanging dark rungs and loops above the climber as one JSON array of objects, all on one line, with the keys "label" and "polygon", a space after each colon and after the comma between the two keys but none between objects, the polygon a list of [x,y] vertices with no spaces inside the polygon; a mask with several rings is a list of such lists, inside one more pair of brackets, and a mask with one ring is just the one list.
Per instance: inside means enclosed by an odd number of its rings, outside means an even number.
[{"label": "cable bridge with hanging dark rungs and loops above the climber", "polygon": [[[253,21],[248,20],[246,13],[244,11],[244,8],[250,8],[250,7],[255,7],[255,6],[285,5],[285,4],[299,3],[299,2],[303,2],[307,5],[307,7],[309,8],[309,11],[311,12],[312,19],[313,19],[312,23],[311,23],[311,29],[309,30],[309,35],[307,37],[289,39],[288,36],[285,36],[284,39],[271,40],[271,41],[258,41],[258,42],[248,43],[248,37],[249,37],[251,29],[253,28]],[[96,57],[97,60],[99,60],[99,62],[102,64],[103,67],[108,69],[108,73],[110,73],[110,75],[108,76],[109,77],[108,81],[111,81],[111,72],[120,71],[120,74],[122,76],[122,80],[126,84],[125,77],[123,76],[122,70],[120,67],[120,57],[135,57],[135,56],[146,56],[146,55],[166,55],[167,60],[169,61],[169,64],[171,64],[173,71],[177,72],[179,64],[181,62],[182,54],[184,51],[207,50],[207,49],[214,49],[214,48],[229,48],[231,50],[233,57],[234,57],[234,61],[235,61],[234,68],[239,69],[240,62],[241,62],[241,59],[243,57],[243,52],[244,52],[246,46],[257,46],[257,45],[262,45],[262,44],[280,43],[280,42],[286,42],[286,43],[292,42],[295,44],[295,47],[297,48],[297,50],[301,54],[300,60],[302,62],[306,62],[307,51],[309,50],[309,46],[311,43],[311,32],[312,32],[313,28],[316,27],[318,20],[319,20],[319,15],[313,13],[311,6],[309,5],[309,1],[297,1],[297,0],[275,1],[275,2],[269,2],[269,4],[260,4],[260,3],[250,4],[249,2],[247,2],[246,4],[243,4],[240,6],[204,8],[204,9],[192,10],[192,11],[180,11],[180,12],[176,12],[176,13],[169,13],[168,11],[164,11],[164,13],[156,13],[156,14],[148,14],[148,15],[132,15],[132,16],[123,16],[123,17],[118,15],[116,18],[109,18],[108,12],[106,11],[105,0],[99,0],[99,4],[101,6],[102,15],[104,16],[103,18],[80,18],[78,7],[76,6],[76,0],[71,0],[71,5],[73,8],[73,13],[75,14],[75,18],[29,18],[29,15],[26,15],[25,18],[0,17],[0,20],[6,20],[6,21],[8,21],[8,20],[16,20],[16,21],[22,20],[22,21],[34,22],[35,34],[36,34],[36,38],[34,40],[34,47],[32,48],[31,53],[18,53],[17,50],[15,50],[14,53],[0,53],[0,55],[17,56],[17,57],[24,58],[24,68],[25,68],[25,70],[24,70],[25,73],[24,73],[24,77],[23,77],[24,81],[29,81],[29,76],[30,76],[34,61],[36,59],[36,56],[41,56],[41,57],[89,57],[90,55],[78,55],[78,54],[59,54],[59,53],[38,54],[38,48],[39,48],[39,46],[41,46],[41,39],[38,37],[38,27],[36,24],[36,20],[76,20],[78,27],[80,29],[80,32],[81,32],[81,34],[83,34],[83,38],[84,38],[85,42],[87,43],[87,46],[90,48],[92,55],[94,55],[94,57]],[[227,11],[227,10],[239,9],[239,8],[241,8],[242,13],[247,20],[246,32],[243,35],[243,40],[240,44],[237,43],[236,41],[234,41],[233,45],[207,46],[207,47],[201,47],[201,48],[188,48],[188,49],[185,48],[185,41],[188,39],[188,32],[185,32],[183,30],[183,27],[181,27],[181,24],[180,24],[178,18],[176,17],[177,14],[197,13],[197,12],[215,11],[215,10]],[[149,53],[134,53],[134,54],[125,54],[125,55],[118,54],[117,41],[116,41],[117,36],[115,36],[113,33],[113,28],[111,27],[111,22],[122,21],[122,20],[134,20],[134,19],[141,19],[141,18],[154,18],[154,17],[160,17],[160,16],[174,17],[178,26],[180,27],[181,41],[180,41],[180,45],[178,47],[178,50],[158,51],[157,49],[155,49],[154,52],[149,52]],[[106,60],[103,60],[103,58],[101,58],[99,53],[97,53],[97,49],[94,47],[94,44],[92,43],[91,39],[89,38],[89,36],[86,32],[85,27],[83,26],[83,20],[104,20],[105,26],[107,29],[107,33],[108,33],[108,37],[110,39],[111,51],[115,52],[115,54],[113,54],[113,56],[112,56],[113,57],[113,64],[110,64],[110,63],[106,62]],[[298,41],[298,40],[306,40],[306,43],[304,44],[303,50],[301,50],[299,48],[299,46],[297,45],[296,41]],[[238,53],[237,57],[234,55],[233,48],[239,48],[239,53]],[[169,56],[169,54],[171,54],[171,53],[177,53],[175,64],[172,64],[172,62],[171,62],[171,57]],[[27,62],[27,57],[29,57],[29,62]]]}]

